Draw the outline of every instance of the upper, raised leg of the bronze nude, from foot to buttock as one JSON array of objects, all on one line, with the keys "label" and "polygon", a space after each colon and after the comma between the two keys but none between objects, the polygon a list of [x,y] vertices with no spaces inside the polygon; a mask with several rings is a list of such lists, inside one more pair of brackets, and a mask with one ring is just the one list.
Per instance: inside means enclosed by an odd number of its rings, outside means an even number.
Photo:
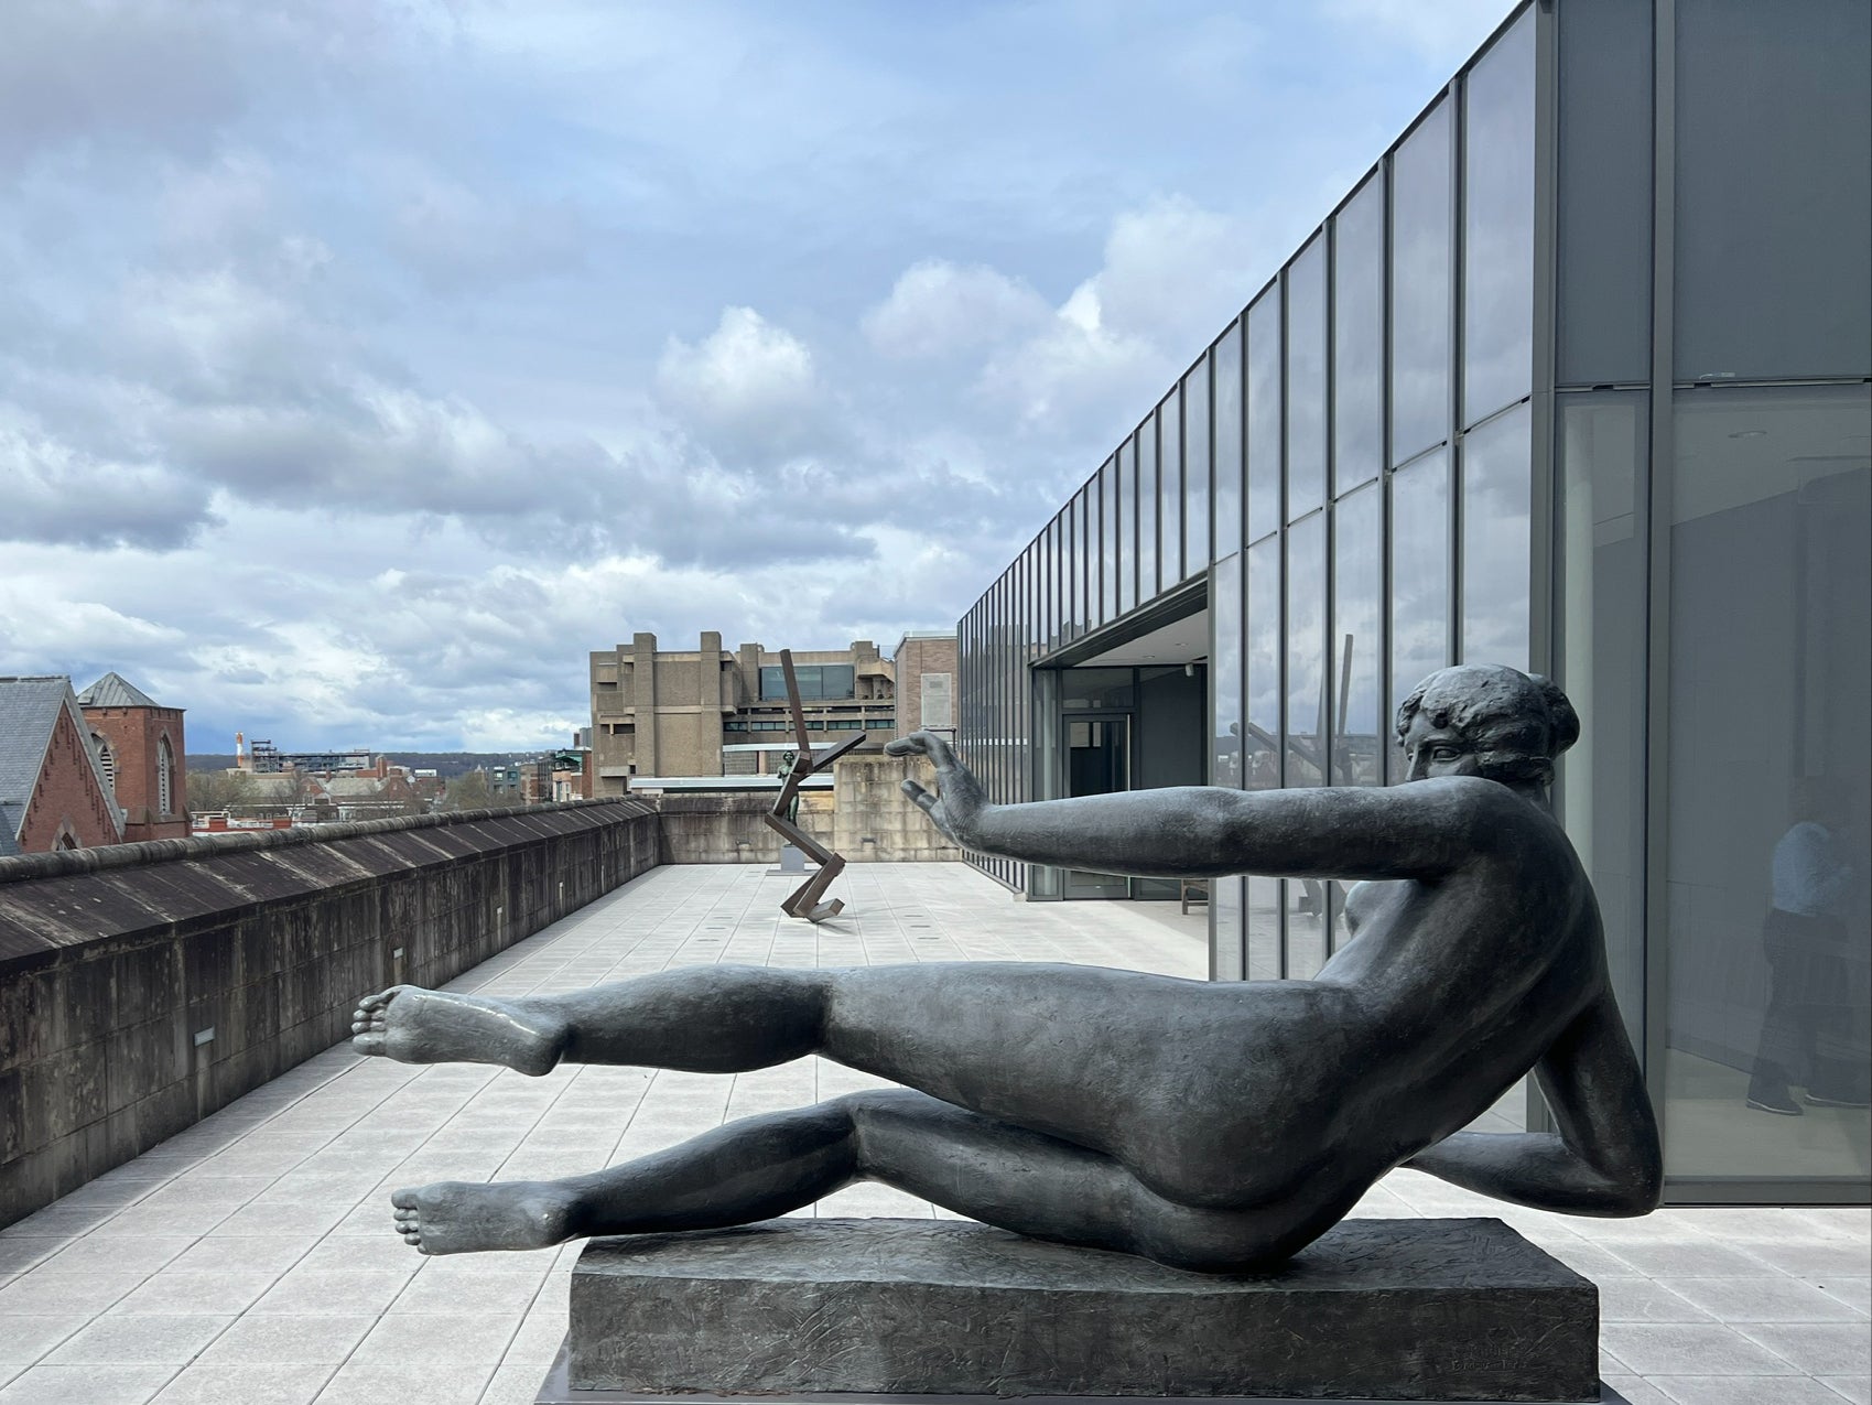
[{"label": "upper, raised leg of the bronze nude, from foot to buttock", "polygon": [[[515,1000],[395,987],[359,1006],[354,1043],[526,1073],[562,1058],[736,1073],[818,1053],[1226,1210],[1280,1199],[1294,1145],[1314,1133],[1303,1126],[1295,1143],[1292,1124],[1329,1117],[1288,1096],[1288,1062],[1241,1058],[1247,1040],[1269,1040],[1269,998],[1249,984],[1030,963],[687,967]],[[1299,991],[1288,1004],[1327,998]]]}]

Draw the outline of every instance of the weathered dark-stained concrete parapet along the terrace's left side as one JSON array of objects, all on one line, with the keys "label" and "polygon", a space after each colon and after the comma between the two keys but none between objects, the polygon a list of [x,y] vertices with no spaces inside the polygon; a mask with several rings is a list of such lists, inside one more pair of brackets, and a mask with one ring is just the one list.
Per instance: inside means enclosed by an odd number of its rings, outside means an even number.
[{"label": "weathered dark-stained concrete parapet along the terrace's left side", "polygon": [[[0,1225],[659,862],[638,800],[0,860]],[[766,826],[762,826],[766,828]]]}]

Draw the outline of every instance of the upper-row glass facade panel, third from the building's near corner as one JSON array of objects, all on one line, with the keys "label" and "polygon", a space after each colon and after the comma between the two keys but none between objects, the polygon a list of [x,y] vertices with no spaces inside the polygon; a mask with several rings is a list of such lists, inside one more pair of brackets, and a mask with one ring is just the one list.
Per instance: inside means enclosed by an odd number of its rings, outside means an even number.
[{"label": "upper-row glass facade panel, third from the building's near corner", "polygon": [[1333,230],[1333,493],[1378,478],[1385,457],[1385,176]]}]

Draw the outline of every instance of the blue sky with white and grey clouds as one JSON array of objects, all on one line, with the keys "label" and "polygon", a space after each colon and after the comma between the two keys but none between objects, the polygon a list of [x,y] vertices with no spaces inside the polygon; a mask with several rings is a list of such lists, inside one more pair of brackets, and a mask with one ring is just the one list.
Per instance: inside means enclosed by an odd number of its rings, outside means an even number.
[{"label": "blue sky with white and grey clouds", "polygon": [[534,749],[949,628],[1509,0],[7,0],[0,673]]}]

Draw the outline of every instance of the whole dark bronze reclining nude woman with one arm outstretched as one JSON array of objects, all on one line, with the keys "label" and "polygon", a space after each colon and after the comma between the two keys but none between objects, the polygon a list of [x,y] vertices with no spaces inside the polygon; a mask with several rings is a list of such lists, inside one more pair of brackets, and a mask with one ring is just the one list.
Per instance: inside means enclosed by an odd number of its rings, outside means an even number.
[{"label": "whole dark bronze reclining nude woman with one arm outstretched", "polygon": [[[934,963],[695,967],[575,995],[393,987],[354,1043],[404,1062],[709,1073],[803,1055],[900,1088],[751,1117],[547,1182],[393,1195],[423,1253],[766,1220],[882,1180],[990,1225],[1177,1268],[1279,1263],[1408,1165],[1544,1210],[1636,1216],[1657,1124],[1606,976],[1591,884],[1548,811],[1578,736],[1514,669],[1426,678],[1398,710],[1406,785],[1183,787],[992,806],[925,732],[958,845],[1030,864],[1209,879],[1340,879],[1355,939],[1314,980]],[[1460,1131],[1533,1072],[1558,1131]]]}]

